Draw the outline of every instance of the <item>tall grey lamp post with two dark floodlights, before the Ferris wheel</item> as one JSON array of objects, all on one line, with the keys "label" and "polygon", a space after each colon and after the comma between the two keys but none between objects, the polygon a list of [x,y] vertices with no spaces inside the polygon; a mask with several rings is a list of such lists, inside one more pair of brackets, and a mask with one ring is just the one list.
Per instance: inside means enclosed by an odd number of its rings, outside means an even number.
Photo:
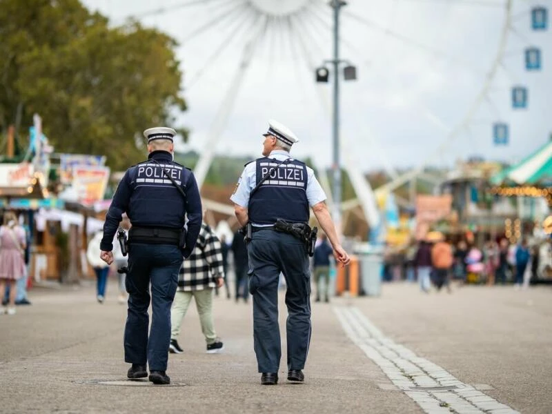
[{"label": "tall grey lamp post with two dark floodlights, before the Ferris wheel", "polygon": [[[339,11],[346,5],[344,0],[331,0],[333,8],[333,59],[324,63],[333,66],[333,220],[339,233],[342,233],[341,219],[341,161],[339,157],[339,65],[346,63],[339,59]],[[345,80],[356,79],[356,68],[348,64],[344,70]],[[328,82],[328,70],[322,66],[316,70],[317,82]]]}]

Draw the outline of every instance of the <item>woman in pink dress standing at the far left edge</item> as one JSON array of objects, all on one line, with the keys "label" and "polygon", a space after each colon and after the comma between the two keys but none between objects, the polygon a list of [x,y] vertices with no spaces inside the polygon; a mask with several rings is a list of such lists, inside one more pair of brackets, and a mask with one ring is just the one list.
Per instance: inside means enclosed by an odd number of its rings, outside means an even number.
[{"label": "woman in pink dress standing at the far left edge", "polygon": [[10,288],[8,306],[1,308],[1,314],[15,315],[15,297],[17,295],[16,282],[24,277],[26,272],[23,257],[26,247],[25,230],[17,225],[15,213],[8,211],[4,214],[3,225],[0,226],[0,298],[6,293],[6,286]]}]

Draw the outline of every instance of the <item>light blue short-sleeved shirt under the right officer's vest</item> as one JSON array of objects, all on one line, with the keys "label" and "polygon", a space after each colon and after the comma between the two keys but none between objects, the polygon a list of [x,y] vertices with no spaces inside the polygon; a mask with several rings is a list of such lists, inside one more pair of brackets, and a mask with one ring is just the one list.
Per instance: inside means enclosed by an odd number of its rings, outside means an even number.
[{"label": "light blue short-sleeved shirt under the right officer's vest", "polygon": [[[275,150],[268,155],[268,158],[277,159],[278,161],[285,161],[289,157],[289,153],[283,150]],[[313,168],[307,167],[306,172],[306,198],[308,199],[308,205],[312,207],[324,201],[326,199],[326,193],[324,193],[324,190],[322,190],[322,187],[316,179]],[[230,197],[230,200],[238,206],[247,207],[249,204],[249,195],[255,186],[257,186],[257,163],[253,161],[244,168],[244,172],[242,172],[242,175],[239,177],[236,190]],[[253,225],[255,224],[253,223]]]}]

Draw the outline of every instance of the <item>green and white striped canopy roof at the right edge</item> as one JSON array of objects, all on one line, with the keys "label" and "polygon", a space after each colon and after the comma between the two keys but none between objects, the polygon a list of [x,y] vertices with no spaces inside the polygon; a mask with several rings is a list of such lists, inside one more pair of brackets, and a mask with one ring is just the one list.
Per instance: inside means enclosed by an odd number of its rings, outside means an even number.
[{"label": "green and white striped canopy roof at the right edge", "polygon": [[549,184],[552,181],[552,140],[519,163],[498,172],[491,183]]}]

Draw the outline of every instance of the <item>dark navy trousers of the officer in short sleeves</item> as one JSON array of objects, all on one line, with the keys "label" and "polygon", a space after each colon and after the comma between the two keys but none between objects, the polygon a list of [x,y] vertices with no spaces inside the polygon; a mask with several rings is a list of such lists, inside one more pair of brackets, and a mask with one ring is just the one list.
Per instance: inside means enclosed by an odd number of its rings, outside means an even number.
[{"label": "dark navy trousers of the officer in short sleeves", "polygon": [[286,279],[288,369],[303,369],[311,342],[311,273],[306,246],[296,237],[259,230],[248,244],[249,292],[253,295],[253,339],[259,373],[277,373],[282,348],[278,326],[278,282]]}]

